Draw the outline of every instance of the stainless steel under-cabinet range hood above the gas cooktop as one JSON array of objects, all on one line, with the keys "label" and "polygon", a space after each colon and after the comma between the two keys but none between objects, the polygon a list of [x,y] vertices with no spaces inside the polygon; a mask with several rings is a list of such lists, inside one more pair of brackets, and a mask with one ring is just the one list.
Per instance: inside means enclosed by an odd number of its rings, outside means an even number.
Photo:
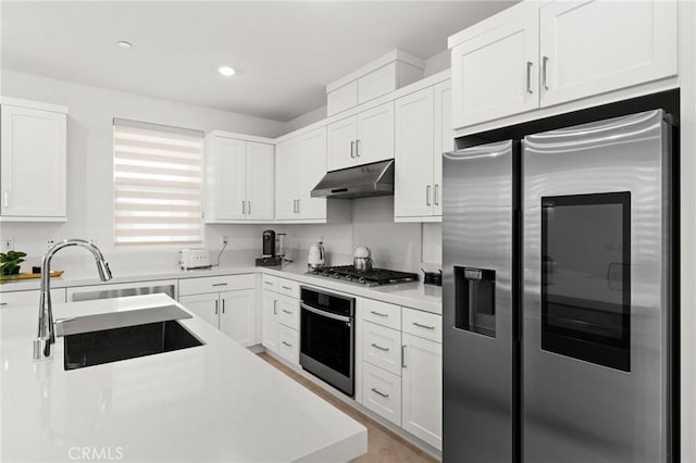
[{"label": "stainless steel under-cabinet range hood above the gas cooktop", "polygon": [[312,190],[312,198],[353,199],[394,195],[394,160],[327,172]]}]

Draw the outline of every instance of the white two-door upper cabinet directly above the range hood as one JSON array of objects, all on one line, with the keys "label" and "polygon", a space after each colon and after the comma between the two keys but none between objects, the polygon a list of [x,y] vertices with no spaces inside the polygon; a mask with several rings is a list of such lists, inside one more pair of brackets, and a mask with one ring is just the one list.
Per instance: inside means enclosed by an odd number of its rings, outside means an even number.
[{"label": "white two-door upper cabinet directly above the range hood", "polygon": [[328,124],[327,170],[394,158],[394,102]]}]

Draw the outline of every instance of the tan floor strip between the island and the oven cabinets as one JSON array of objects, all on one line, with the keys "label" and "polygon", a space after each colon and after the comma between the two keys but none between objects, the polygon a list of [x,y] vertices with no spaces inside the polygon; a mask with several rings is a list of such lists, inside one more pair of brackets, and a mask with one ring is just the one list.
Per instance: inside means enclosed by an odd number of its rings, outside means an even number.
[{"label": "tan floor strip between the island and the oven cabinets", "polygon": [[281,372],[285,373],[315,395],[320,396],[322,399],[332,403],[337,409],[341,410],[344,413],[352,417],[353,420],[360,422],[364,427],[368,428],[368,453],[362,456],[359,456],[356,460],[352,460],[357,463],[434,463],[438,460],[434,459],[430,454],[423,452],[419,448],[412,446],[406,440],[401,439],[396,434],[391,433],[386,427],[382,426],[380,423],[370,418],[369,416],[363,415],[358,410],[352,406],[344,403],[341,400],[337,399],[330,392],[325,391],[314,383],[309,379],[302,377],[302,375],[293,371],[293,368],[284,365],[283,363],[275,360],[273,356],[266,353],[258,354],[261,359],[269,362],[271,365],[278,368]]}]

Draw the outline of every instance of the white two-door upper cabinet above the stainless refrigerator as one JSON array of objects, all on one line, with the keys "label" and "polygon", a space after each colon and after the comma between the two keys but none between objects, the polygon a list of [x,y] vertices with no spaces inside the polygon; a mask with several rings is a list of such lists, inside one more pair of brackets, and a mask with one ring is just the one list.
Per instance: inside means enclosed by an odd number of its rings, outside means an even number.
[{"label": "white two-door upper cabinet above the stainless refrigerator", "polygon": [[678,73],[678,2],[522,2],[449,38],[462,128]]}]

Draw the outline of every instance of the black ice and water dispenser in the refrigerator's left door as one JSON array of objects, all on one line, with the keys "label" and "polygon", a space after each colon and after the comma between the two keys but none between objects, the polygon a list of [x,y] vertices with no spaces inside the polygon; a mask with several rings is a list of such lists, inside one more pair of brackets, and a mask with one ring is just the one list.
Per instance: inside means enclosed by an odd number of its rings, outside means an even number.
[{"label": "black ice and water dispenser in the refrigerator's left door", "polygon": [[455,267],[455,326],[496,337],[496,271]]}]

